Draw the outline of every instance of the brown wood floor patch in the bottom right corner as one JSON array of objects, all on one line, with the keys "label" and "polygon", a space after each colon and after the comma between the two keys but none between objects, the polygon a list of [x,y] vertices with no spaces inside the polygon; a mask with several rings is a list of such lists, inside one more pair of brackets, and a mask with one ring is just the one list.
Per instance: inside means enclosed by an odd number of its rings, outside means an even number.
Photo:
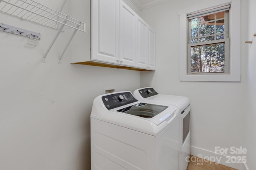
[{"label": "brown wood floor patch in the bottom right corner", "polygon": [[190,155],[190,160],[188,163],[187,170],[236,170],[222,164],[216,164],[202,158]]}]

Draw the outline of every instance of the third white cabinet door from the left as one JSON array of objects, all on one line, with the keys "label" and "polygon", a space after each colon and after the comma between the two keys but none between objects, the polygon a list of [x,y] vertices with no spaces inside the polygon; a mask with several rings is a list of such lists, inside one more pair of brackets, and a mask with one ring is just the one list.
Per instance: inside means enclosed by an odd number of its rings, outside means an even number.
[{"label": "third white cabinet door from the left", "polygon": [[148,24],[137,16],[137,67],[147,67]]}]

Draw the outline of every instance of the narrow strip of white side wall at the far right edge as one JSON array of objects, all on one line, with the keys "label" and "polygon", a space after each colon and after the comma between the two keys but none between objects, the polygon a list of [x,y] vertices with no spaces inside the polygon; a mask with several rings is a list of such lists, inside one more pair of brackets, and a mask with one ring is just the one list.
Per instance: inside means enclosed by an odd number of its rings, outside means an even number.
[{"label": "narrow strip of white side wall at the far right edge", "polygon": [[256,1],[248,0],[248,30],[246,31],[248,41],[253,41],[252,44],[247,44],[248,48],[248,91],[249,91],[249,100],[248,107],[250,110],[246,113],[245,121],[245,146],[248,149],[247,153],[247,165],[250,170],[254,170],[256,167],[255,162],[255,153],[256,153],[256,37],[253,37],[253,34],[256,33]]}]

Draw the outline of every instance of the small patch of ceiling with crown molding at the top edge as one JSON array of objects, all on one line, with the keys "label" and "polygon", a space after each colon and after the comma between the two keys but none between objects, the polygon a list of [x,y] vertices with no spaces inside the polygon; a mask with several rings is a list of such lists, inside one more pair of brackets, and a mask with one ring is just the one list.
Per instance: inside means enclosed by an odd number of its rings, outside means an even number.
[{"label": "small patch of ceiling with crown molding at the top edge", "polygon": [[131,1],[132,3],[134,3],[134,5],[136,5],[139,8],[139,10],[144,10],[170,0],[131,0]]}]

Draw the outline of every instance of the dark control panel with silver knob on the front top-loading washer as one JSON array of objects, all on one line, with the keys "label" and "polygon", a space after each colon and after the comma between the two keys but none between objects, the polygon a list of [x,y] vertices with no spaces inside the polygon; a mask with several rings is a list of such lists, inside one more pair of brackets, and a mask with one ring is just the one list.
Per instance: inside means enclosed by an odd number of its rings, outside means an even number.
[{"label": "dark control panel with silver knob on the front top-loading washer", "polygon": [[102,96],[102,101],[107,109],[114,109],[116,107],[124,106],[138,102],[130,92],[115,93],[107,96]]}]

